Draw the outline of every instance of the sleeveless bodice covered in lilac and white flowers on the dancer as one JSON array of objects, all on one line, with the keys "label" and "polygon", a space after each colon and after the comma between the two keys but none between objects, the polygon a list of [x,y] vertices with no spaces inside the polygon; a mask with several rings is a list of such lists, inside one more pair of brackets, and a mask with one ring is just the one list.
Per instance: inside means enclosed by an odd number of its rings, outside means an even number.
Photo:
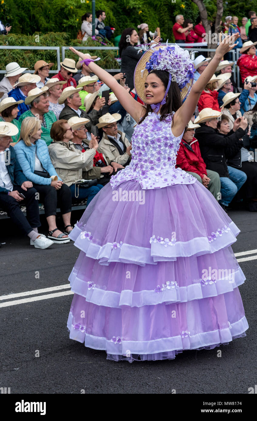
[{"label": "sleeveless bodice covered in lilac and white flowers on the dancer", "polygon": [[173,136],[171,121],[149,112],[143,123],[136,125],[131,144],[131,162],[111,177],[114,189],[124,181],[138,181],[142,189],[160,189],[174,184],[193,184],[196,178],[181,168],[175,168],[176,156],[183,133]]}]

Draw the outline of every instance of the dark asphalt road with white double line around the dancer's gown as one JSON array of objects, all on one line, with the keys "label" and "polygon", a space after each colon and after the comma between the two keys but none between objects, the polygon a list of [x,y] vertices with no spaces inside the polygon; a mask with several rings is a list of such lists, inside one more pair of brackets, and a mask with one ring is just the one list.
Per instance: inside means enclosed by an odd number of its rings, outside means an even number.
[{"label": "dark asphalt road with white double line around the dancer's gown", "polygon": [[[74,214],[73,222],[80,215],[81,211]],[[229,216],[241,229],[234,252],[257,249],[256,213],[231,211]],[[27,237],[14,232],[10,220],[2,220],[0,225],[0,238],[5,242],[0,249],[0,296],[68,284],[79,252],[72,241],[39,250],[29,245]],[[239,264],[246,275],[239,289],[249,329],[245,338],[219,347],[222,357],[217,357],[215,348],[185,351],[170,361],[130,364],[106,360],[106,352],[69,339],[66,322],[73,296],[68,294],[0,307],[0,387],[10,387],[11,394],[80,394],[81,389],[92,394],[167,394],[173,389],[177,394],[248,394],[256,384],[257,259]],[[68,287],[47,293],[63,291],[68,292]],[[0,304],[23,298],[28,296],[10,296]]]}]

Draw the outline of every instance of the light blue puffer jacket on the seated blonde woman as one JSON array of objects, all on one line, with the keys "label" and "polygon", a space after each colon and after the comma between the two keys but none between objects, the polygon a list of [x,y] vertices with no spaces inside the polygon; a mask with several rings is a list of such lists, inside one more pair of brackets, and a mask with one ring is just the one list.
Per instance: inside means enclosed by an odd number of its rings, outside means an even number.
[{"label": "light blue puffer jacket on the seated blonde woman", "polygon": [[[42,139],[35,141],[35,144],[26,146],[23,140],[20,140],[14,146],[17,160],[22,167],[24,175],[29,181],[35,184],[43,184],[45,186],[51,184],[51,179],[34,174],[35,171],[35,152],[37,152],[38,159],[41,162],[42,167],[49,172],[50,176],[57,176],[58,174],[54,169],[51,159],[49,157],[48,147],[46,142]],[[62,181],[60,177],[58,180]]]}]

